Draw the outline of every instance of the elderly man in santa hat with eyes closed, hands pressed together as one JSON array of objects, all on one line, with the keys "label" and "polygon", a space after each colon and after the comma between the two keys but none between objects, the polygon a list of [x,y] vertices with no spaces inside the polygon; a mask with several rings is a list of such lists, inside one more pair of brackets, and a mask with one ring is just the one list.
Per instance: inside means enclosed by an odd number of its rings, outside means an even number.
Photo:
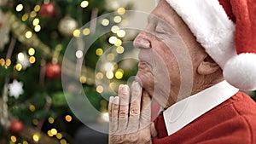
[{"label": "elderly man in santa hat with eyes closed, hands pressed together", "polygon": [[[108,105],[109,143],[256,143],[254,0],[160,0],[135,39],[136,82]],[[236,40],[236,43],[235,43]],[[163,112],[151,123],[154,99]]]}]

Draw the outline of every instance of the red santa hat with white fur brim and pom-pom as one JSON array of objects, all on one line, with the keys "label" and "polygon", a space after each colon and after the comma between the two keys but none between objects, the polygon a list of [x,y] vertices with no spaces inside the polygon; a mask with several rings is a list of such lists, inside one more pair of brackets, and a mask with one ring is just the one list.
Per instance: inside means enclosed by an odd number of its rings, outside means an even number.
[{"label": "red santa hat with white fur brim and pom-pom", "polygon": [[238,89],[256,89],[256,0],[166,0]]}]

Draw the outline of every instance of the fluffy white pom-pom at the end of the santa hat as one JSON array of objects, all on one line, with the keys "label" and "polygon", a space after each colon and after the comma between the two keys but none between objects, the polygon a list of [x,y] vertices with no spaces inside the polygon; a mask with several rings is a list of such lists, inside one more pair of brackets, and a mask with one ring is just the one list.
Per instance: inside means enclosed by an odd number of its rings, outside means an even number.
[{"label": "fluffy white pom-pom at the end of the santa hat", "polygon": [[243,53],[229,60],[224,66],[224,78],[239,89],[256,89],[256,55]]}]

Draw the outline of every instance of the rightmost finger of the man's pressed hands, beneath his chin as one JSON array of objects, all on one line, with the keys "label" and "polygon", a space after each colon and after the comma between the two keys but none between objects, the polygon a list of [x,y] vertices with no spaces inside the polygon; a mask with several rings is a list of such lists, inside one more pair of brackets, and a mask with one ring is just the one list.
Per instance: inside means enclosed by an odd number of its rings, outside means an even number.
[{"label": "rightmost finger of the man's pressed hands, beneath his chin", "polygon": [[151,124],[151,97],[143,90],[142,112],[140,115],[140,130]]}]

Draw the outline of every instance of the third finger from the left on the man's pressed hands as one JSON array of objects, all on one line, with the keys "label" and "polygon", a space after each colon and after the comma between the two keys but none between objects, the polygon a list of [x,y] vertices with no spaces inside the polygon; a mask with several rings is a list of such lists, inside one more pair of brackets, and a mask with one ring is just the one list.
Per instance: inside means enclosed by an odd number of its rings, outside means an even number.
[{"label": "third finger from the left on the man's pressed hands", "polygon": [[141,98],[142,98],[143,88],[138,82],[134,82],[131,85],[131,107],[130,107],[130,117],[128,124],[128,132],[133,133],[138,130],[139,118],[141,111]]}]

